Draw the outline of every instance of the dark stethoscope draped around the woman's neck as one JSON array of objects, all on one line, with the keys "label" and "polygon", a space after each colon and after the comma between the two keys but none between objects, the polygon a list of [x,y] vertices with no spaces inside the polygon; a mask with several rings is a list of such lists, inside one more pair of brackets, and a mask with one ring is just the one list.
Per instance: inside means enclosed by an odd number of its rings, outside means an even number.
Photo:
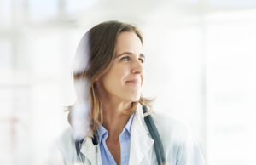
[{"label": "dark stethoscope draped around the woman's neck", "polygon": [[[155,127],[154,120],[151,117],[151,115],[148,113],[148,109],[145,105],[143,106],[143,114],[144,114],[144,120],[148,127],[149,133],[151,134],[152,139],[154,139],[154,150],[155,150],[156,160],[158,162],[158,165],[166,164],[165,151],[163,148],[162,141],[160,139],[160,134],[159,134],[157,128]],[[83,159],[81,157],[79,145],[82,144],[83,141],[84,141],[84,139],[78,139],[75,141],[77,155],[79,156],[79,159],[81,162],[83,162]],[[96,132],[93,134],[92,143],[93,143],[93,145],[95,145],[96,165],[98,165],[99,164],[99,161],[98,161],[98,136],[97,136]]]}]

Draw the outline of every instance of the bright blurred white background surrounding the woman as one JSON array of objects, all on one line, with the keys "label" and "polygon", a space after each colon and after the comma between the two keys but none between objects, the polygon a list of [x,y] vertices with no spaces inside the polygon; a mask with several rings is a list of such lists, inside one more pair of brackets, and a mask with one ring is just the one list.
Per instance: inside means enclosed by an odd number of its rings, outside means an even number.
[{"label": "bright blurred white background surrounding the woman", "polygon": [[256,164],[253,0],[0,0],[0,164],[46,164],[79,40],[106,20],[143,31],[143,95],[188,123],[207,165]]}]

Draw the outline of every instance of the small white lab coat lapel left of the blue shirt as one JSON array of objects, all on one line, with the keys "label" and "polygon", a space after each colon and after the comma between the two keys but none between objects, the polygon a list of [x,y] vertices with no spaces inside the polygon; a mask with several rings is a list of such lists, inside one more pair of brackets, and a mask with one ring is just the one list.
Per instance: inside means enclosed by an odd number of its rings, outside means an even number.
[{"label": "small white lab coat lapel left of the blue shirt", "polygon": [[92,141],[90,138],[85,138],[84,145],[81,148],[81,152],[84,154],[86,158],[90,160],[90,164],[96,164],[96,152],[95,152],[95,146],[92,144]]}]

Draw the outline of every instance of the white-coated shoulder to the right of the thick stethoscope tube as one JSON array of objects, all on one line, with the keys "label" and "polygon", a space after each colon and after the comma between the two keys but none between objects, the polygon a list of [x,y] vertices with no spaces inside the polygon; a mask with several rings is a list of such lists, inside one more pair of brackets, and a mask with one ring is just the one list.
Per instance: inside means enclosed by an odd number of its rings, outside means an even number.
[{"label": "white-coated shoulder to the right of the thick stethoscope tube", "polygon": [[[176,157],[178,164],[205,164],[195,136],[185,122],[158,111],[154,111],[151,116],[165,151],[172,153],[172,157]],[[166,156],[166,159],[172,162],[170,156]]]}]

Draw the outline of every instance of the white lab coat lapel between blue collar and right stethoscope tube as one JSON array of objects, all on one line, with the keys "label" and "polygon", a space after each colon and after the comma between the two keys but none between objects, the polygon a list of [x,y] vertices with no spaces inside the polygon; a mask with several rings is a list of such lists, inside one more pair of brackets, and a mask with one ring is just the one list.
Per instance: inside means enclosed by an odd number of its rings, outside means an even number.
[{"label": "white lab coat lapel between blue collar and right stethoscope tube", "polygon": [[[154,139],[149,137],[147,125],[144,122],[143,110],[140,104],[137,105],[137,112],[131,125],[131,151],[130,165],[138,165],[153,147]],[[150,161],[150,159],[148,159]],[[151,164],[151,162],[145,162]]]}]

